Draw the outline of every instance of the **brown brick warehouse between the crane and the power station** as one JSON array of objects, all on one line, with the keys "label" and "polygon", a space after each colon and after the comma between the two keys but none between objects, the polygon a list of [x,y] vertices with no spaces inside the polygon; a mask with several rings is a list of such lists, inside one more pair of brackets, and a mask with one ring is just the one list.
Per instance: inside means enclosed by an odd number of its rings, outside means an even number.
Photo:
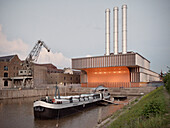
[{"label": "brown brick warehouse between the crane and the power station", "polygon": [[70,68],[58,69],[53,64],[36,64],[36,66],[43,68],[44,73],[36,73],[35,85],[38,85],[42,80],[44,80],[45,86],[56,84],[66,86],[80,83],[80,71],[73,71]]}]

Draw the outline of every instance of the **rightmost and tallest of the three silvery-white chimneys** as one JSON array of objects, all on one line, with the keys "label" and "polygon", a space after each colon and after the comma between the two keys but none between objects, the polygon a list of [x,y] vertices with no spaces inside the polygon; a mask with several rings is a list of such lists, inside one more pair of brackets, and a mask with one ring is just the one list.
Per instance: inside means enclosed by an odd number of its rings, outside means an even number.
[{"label": "rightmost and tallest of the three silvery-white chimneys", "polygon": [[127,5],[122,5],[122,53],[127,53]]}]

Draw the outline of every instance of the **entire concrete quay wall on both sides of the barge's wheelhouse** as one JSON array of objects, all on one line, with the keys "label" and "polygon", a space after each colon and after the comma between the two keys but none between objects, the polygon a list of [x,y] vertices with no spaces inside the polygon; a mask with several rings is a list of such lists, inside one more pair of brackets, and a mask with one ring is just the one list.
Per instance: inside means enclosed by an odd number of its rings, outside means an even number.
[{"label": "entire concrete quay wall on both sides of the barge's wheelhouse", "polygon": [[[124,95],[124,96],[137,96],[142,93],[147,94],[154,90],[155,87],[143,87],[143,88],[109,88],[111,95]],[[59,87],[61,95],[74,95],[82,93],[90,93],[90,88],[83,87]],[[0,99],[8,98],[24,98],[24,97],[35,97],[35,96],[54,96],[55,88],[44,88],[44,89],[5,89],[0,90]]]}]

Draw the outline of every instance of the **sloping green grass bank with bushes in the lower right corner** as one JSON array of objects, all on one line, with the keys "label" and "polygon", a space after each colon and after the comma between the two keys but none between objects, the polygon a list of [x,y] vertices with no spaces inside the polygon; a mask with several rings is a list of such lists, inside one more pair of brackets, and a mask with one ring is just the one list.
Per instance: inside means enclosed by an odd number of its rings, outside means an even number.
[{"label": "sloping green grass bank with bushes in the lower right corner", "polygon": [[161,128],[167,124],[164,119],[166,106],[164,89],[159,87],[125,111],[108,128]]}]

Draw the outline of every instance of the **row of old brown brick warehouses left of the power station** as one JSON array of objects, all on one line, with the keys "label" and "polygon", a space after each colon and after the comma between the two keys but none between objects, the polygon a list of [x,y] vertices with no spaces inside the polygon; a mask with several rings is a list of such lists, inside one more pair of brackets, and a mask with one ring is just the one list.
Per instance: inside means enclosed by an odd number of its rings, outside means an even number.
[{"label": "row of old brown brick warehouses left of the power station", "polygon": [[[80,72],[58,69],[53,64],[32,64],[33,72],[25,72],[17,55],[0,57],[0,89],[46,87],[52,84],[80,83]],[[67,70],[67,71],[66,71]],[[24,75],[25,74],[25,75]]]}]

